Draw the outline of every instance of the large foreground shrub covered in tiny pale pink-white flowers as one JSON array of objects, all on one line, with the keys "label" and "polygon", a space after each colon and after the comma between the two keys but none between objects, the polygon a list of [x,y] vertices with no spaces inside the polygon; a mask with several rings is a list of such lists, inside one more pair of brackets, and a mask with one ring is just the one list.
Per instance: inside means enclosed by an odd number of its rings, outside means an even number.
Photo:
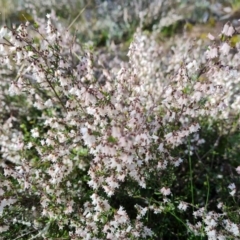
[{"label": "large foreground shrub covered in tiny pale pink-white flowers", "polygon": [[[205,55],[188,41],[169,60],[139,30],[114,74],[50,15],[2,27],[1,236],[154,239],[172,221],[171,236],[236,239],[239,167],[220,152],[239,121],[235,34],[227,23]],[[232,170],[216,189],[214,150]]]}]

